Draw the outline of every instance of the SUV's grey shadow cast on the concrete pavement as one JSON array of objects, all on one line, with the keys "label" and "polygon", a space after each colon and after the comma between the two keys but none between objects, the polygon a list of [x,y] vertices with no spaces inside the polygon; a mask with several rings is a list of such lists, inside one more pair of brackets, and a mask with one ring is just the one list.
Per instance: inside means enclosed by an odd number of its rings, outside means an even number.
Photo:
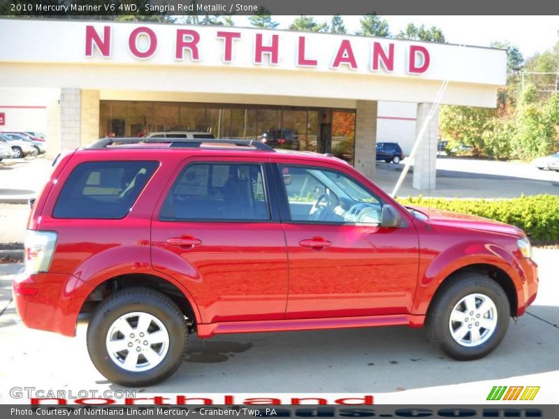
[{"label": "SUV's grey shadow cast on the concrete pavement", "polygon": [[[370,328],[191,337],[182,367],[150,392],[395,392],[559,369],[559,307],[535,306],[486,358],[460,362],[423,330]],[[111,388],[120,388],[110,385]]]}]

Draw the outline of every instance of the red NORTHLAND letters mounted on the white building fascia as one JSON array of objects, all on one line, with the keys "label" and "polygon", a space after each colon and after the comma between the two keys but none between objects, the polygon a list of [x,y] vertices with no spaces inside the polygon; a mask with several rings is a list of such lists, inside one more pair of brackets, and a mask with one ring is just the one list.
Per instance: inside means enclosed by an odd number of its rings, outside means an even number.
[{"label": "red NORTHLAND letters mounted on the white building fascia", "polygon": [[[241,31],[220,29],[216,30],[213,35],[222,43],[221,61],[225,64],[233,63],[235,50],[238,52],[248,47],[253,52],[253,64],[264,64],[266,60],[267,64],[278,66],[279,53],[281,50],[286,50],[286,47],[280,45],[279,34],[268,34],[268,41],[264,40],[265,34],[259,31],[250,31],[243,34]],[[87,25],[85,27],[85,56],[94,57],[97,53],[99,57],[110,58],[112,36],[112,27],[110,26],[104,26],[99,30],[93,25]],[[296,54],[295,57],[292,57],[296,66],[318,68],[319,60],[321,60],[328,62],[331,69],[345,66],[351,70],[358,70],[359,64],[354,50],[356,38],[339,39],[336,44],[337,47],[330,52],[332,58],[329,58],[328,54],[317,54],[317,48],[312,49],[307,45],[309,42],[307,38],[310,38],[310,36],[305,34],[298,34],[296,36]],[[201,43],[200,29],[175,29],[173,41],[173,58],[177,61],[203,61],[205,53],[208,52],[204,50],[203,43]],[[157,54],[160,41],[154,29],[141,26],[131,30],[127,42],[128,51],[132,57],[136,59],[151,59]],[[293,46],[291,45],[291,47]],[[395,42],[372,39],[369,42],[367,55],[369,71],[393,73],[396,60]],[[400,56],[398,59],[405,59],[405,70],[407,73],[426,73],[430,65],[428,45],[405,45],[404,57]]]}]

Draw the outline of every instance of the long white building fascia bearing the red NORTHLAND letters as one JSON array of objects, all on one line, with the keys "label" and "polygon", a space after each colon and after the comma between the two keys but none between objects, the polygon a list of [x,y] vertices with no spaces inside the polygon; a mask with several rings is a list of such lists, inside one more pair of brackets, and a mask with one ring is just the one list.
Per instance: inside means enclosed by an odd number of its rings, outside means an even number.
[{"label": "long white building fascia bearing the red NORTHLAND letters", "polygon": [[355,75],[363,75],[365,79],[449,80],[486,86],[506,81],[504,50],[370,36],[15,19],[1,20],[0,36],[10,39],[2,47],[4,63],[171,66],[189,71],[248,69],[328,78],[347,75],[354,80]]}]

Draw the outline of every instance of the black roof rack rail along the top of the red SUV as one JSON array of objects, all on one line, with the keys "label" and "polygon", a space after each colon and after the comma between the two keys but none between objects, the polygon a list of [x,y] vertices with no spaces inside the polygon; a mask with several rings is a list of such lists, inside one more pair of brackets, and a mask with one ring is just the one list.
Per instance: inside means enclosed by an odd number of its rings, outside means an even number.
[{"label": "black roof rack rail along the top of the red SUV", "polygon": [[235,140],[232,138],[101,138],[85,147],[86,149],[106,149],[110,145],[125,144],[169,144],[173,148],[198,148],[203,145],[231,144],[237,147],[254,147],[261,152],[275,152],[275,149],[256,140]]}]

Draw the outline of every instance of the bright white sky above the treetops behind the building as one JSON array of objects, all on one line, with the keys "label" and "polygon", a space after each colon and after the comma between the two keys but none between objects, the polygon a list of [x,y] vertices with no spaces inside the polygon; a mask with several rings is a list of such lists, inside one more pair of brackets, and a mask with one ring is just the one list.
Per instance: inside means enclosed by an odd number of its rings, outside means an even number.
[{"label": "bright white sky above the treetops behind the building", "polygon": [[[559,41],[557,16],[383,16],[392,34],[397,34],[409,22],[440,27],[449,43],[488,47],[492,41],[509,41],[525,58],[550,50]],[[294,16],[274,15],[278,29],[287,29]],[[348,33],[359,29],[361,16],[344,16]],[[330,21],[330,16],[314,16],[317,22]],[[238,26],[249,26],[246,16],[235,17]]]}]

